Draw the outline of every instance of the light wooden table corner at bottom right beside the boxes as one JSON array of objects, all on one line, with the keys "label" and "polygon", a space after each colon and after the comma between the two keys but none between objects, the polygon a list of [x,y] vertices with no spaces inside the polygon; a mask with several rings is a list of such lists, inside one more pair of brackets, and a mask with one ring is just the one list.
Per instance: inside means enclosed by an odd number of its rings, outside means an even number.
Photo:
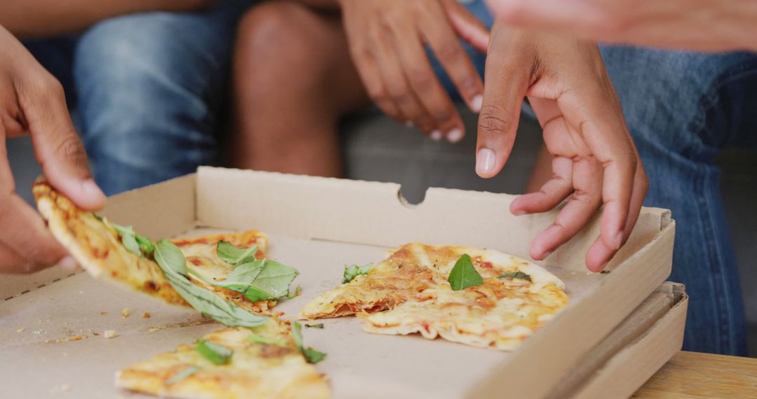
[{"label": "light wooden table corner at bottom right beside the boxes", "polygon": [[678,352],[633,397],[757,397],[757,359]]}]

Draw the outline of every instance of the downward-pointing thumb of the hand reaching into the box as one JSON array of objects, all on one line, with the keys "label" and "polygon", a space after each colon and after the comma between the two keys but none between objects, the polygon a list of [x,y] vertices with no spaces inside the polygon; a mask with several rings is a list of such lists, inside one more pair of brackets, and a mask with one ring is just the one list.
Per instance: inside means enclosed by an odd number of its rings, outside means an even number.
[{"label": "downward-pointing thumb of the hand reaching into the box", "polygon": [[531,53],[510,45],[512,38],[497,26],[492,35],[476,143],[475,172],[482,178],[497,175],[509,158],[533,62]]}]

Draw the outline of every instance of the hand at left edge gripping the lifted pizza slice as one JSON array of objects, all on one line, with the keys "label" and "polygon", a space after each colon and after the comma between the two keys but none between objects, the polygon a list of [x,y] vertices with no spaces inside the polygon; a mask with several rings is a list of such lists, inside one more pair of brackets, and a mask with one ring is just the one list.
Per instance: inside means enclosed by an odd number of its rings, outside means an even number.
[{"label": "hand at left edge gripping the lifted pizza slice", "polygon": [[5,139],[26,133],[50,184],[83,209],[103,206],[61,84],[0,26],[0,271],[30,273],[55,263],[73,269],[73,258],[15,193]]}]

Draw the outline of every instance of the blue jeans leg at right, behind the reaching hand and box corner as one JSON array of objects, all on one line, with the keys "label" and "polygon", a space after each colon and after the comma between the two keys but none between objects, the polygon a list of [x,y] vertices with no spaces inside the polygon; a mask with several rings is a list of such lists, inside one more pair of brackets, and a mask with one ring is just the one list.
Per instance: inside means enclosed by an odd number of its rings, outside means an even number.
[{"label": "blue jeans leg at right, behind the reaching hand and box corner", "polygon": [[[491,26],[482,0],[466,7]],[[484,54],[467,48],[483,71]],[[644,205],[671,209],[677,222],[670,280],[686,284],[690,295],[684,349],[746,355],[743,298],[714,161],[726,145],[757,146],[757,54],[600,49],[650,178]]]}]

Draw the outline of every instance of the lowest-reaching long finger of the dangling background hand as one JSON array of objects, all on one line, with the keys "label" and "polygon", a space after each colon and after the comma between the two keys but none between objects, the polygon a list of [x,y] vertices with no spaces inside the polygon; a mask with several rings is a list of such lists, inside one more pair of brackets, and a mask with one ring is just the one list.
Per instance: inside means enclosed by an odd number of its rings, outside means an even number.
[{"label": "lowest-reaching long finger of the dangling background hand", "polygon": [[[392,26],[391,29],[394,51],[400,57],[404,77],[434,124],[431,138],[446,137],[453,143],[462,140],[465,135],[463,119],[431,68],[418,32],[410,24]],[[455,44],[459,45],[456,41]]]}]

